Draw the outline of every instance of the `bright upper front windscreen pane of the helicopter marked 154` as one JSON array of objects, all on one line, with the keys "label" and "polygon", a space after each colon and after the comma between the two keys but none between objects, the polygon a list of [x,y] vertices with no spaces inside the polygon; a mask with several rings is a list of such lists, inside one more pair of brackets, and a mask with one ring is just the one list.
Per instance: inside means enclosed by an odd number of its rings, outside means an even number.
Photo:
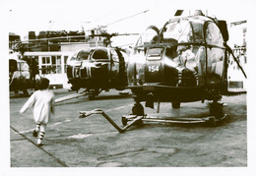
[{"label": "bright upper front windscreen pane of the helicopter marked 154", "polygon": [[190,23],[188,21],[178,21],[166,25],[162,33],[163,42],[170,38],[176,39],[178,42],[190,42],[192,40],[192,29]]}]

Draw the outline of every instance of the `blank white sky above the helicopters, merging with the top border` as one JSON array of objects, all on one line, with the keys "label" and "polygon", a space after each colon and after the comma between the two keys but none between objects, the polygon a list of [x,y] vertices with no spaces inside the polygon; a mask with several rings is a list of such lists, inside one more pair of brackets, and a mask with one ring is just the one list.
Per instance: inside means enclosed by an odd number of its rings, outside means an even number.
[{"label": "blank white sky above the helicopters, merging with the top border", "polygon": [[82,30],[109,24],[108,32],[141,33],[150,25],[160,28],[177,9],[191,12],[201,9],[208,16],[235,22],[247,20],[254,11],[251,4],[255,3],[253,0],[0,0],[0,4],[4,5],[6,29],[23,39],[30,30],[35,33]]}]

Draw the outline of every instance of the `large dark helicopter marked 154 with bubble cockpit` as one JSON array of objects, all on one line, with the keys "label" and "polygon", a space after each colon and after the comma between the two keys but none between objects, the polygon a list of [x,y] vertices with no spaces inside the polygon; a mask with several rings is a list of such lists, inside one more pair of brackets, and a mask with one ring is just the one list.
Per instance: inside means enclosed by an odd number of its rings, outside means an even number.
[{"label": "large dark helicopter marked 154 with bubble cockpit", "polygon": [[[174,18],[161,29],[150,26],[139,37],[127,66],[128,87],[135,104],[132,116],[146,118],[144,107],[158,102],[171,102],[180,108],[184,102],[212,101],[210,114],[214,121],[224,118],[222,95],[227,90],[227,68],[230,58],[246,74],[226,44],[226,22],[205,16],[198,10],[193,16]],[[134,118],[133,118],[134,119]],[[123,125],[129,117],[122,117]]]}]

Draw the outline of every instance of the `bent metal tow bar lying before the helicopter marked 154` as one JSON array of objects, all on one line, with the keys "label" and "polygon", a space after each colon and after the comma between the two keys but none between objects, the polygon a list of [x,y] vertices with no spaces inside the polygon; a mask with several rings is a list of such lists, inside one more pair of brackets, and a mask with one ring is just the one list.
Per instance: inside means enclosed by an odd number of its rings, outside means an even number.
[{"label": "bent metal tow bar lying before the helicopter marked 154", "polygon": [[124,133],[129,127],[131,127],[136,122],[140,121],[144,116],[137,116],[134,118],[129,124],[124,126],[123,128],[119,127],[104,111],[100,109],[95,109],[92,111],[80,111],[79,118],[86,118],[93,114],[101,114],[119,133]]}]

